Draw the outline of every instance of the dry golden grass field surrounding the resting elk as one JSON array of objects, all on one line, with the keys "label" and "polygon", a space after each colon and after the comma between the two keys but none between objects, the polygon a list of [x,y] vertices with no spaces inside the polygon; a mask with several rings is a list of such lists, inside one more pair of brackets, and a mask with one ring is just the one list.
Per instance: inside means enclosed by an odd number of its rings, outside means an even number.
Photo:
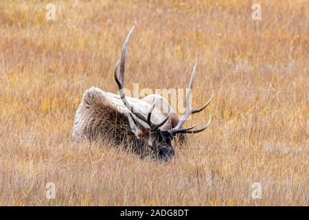
[{"label": "dry golden grass field surrounding the resting elk", "polygon": [[[0,205],[308,206],[308,1],[259,1],[262,21],[251,1],[53,1],[56,21],[47,3],[0,2]],[[133,24],[126,87],[187,87],[200,49],[194,106],[215,94],[169,163],[71,140]]]}]

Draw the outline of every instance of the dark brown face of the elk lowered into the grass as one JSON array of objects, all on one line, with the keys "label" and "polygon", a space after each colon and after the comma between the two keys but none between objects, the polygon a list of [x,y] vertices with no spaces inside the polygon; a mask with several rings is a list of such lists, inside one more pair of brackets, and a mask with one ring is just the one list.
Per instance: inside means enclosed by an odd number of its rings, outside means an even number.
[{"label": "dark brown face of the elk lowered into the grass", "polygon": [[174,135],[168,131],[161,131],[157,129],[157,131],[151,132],[152,142],[151,148],[154,151],[155,155],[159,159],[170,159],[175,155],[174,148],[172,146],[172,140],[174,139]]}]

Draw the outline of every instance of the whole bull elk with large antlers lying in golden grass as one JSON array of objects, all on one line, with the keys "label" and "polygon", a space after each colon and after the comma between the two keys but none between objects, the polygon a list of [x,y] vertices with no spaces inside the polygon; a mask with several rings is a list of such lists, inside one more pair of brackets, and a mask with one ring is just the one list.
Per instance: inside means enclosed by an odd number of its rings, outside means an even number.
[{"label": "whole bull elk with large antlers lying in golden grass", "polygon": [[[211,118],[201,129],[193,130],[196,124],[187,128],[182,126],[190,115],[205,109],[213,96],[200,109],[190,108],[192,87],[198,67],[198,53],[185,99],[185,113],[181,119],[176,116],[168,101],[162,96],[152,94],[143,99],[126,97],[124,93],[126,47],[134,28],[133,26],[128,33],[122,47],[121,59],[117,61],[114,68],[120,96],[96,87],[88,89],[76,111],[73,138],[84,137],[87,140],[94,140],[103,137],[116,145],[130,146],[140,155],[155,155],[159,159],[168,159],[175,154],[172,146],[175,138],[183,142],[187,133],[198,133],[207,129]],[[162,108],[168,111],[162,111]]]}]

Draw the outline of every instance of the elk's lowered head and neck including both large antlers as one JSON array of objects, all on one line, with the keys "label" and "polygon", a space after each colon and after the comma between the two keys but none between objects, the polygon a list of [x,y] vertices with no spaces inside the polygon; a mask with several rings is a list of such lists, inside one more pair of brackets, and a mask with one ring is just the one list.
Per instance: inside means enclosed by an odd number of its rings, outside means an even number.
[{"label": "elk's lowered head and neck including both large antlers", "polygon": [[[122,99],[122,102],[124,102],[124,105],[126,108],[130,111],[128,115],[128,120],[130,122],[130,128],[132,129],[133,133],[135,133],[135,136],[137,137],[137,140],[139,140],[139,144],[141,144],[141,147],[148,146],[159,159],[168,159],[172,156],[174,156],[174,148],[172,146],[172,140],[174,140],[174,137],[177,133],[198,133],[201,131],[204,131],[207,129],[211,122],[211,118],[209,118],[209,121],[205,126],[203,126],[201,129],[192,130],[196,124],[193,126],[190,126],[188,128],[182,128],[185,121],[190,117],[190,115],[194,113],[198,113],[205,109],[208,104],[211,102],[213,96],[201,107],[200,109],[190,109],[190,100],[192,96],[192,87],[194,83],[194,77],[196,74],[196,69],[198,67],[198,60],[199,60],[199,52],[198,56],[196,58],[196,64],[192,71],[192,76],[189,84],[189,88],[187,89],[187,96],[185,99],[185,113],[179,120],[178,124],[174,126],[174,128],[161,131],[160,127],[168,121],[168,118],[170,117],[171,111],[168,113],[166,118],[164,118],[161,122],[155,124],[151,120],[152,111],[155,108],[156,100],[152,104],[152,107],[150,107],[147,117],[140,113],[133,105],[131,105],[128,100],[126,99],[126,96],[124,94],[124,66],[125,66],[125,60],[126,60],[126,47],[128,45],[128,41],[130,40],[130,36],[134,30],[135,26],[130,30],[128,33],[128,36],[126,37],[126,41],[124,42],[124,45],[122,47],[122,55],[120,61],[118,60],[115,68],[114,68],[114,76],[115,81],[118,85],[119,89],[119,95]],[[117,76],[117,66],[120,62],[120,70],[119,70],[119,78]],[[139,120],[141,121],[139,121]]]}]

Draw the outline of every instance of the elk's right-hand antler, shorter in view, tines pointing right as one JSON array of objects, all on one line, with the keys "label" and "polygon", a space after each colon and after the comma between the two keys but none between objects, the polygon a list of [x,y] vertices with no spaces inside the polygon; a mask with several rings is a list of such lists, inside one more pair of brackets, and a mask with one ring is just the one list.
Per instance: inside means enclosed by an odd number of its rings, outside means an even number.
[{"label": "elk's right-hand antler, shorter in view, tines pointing right", "polygon": [[190,115],[203,111],[203,109],[205,109],[208,106],[208,104],[211,102],[212,98],[214,97],[214,94],[212,94],[211,98],[200,109],[194,109],[194,110],[190,109],[190,100],[192,100],[192,88],[193,88],[194,78],[196,74],[196,69],[198,67],[199,58],[200,58],[200,52],[198,52],[198,56],[196,57],[196,63],[192,70],[192,76],[191,76],[190,84],[188,88],[189,91],[187,92],[187,96],[185,98],[185,114],[181,117],[181,120],[179,120],[178,124],[173,129],[169,130],[170,133],[174,133],[174,134],[176,133],[198,133],[198,132],[201,132],[207,129],[207,127],[209,126],[211,122],[211,117],[210,117],[207,124],[203,126],[203,128],[201,129],[192,131],[191,129],[193,129],[196,126],[196,124],[194,124],[193,126],[190,126],[187,129],[181,129],[181,126],[183,126],[183,124],[190,117]]}]

